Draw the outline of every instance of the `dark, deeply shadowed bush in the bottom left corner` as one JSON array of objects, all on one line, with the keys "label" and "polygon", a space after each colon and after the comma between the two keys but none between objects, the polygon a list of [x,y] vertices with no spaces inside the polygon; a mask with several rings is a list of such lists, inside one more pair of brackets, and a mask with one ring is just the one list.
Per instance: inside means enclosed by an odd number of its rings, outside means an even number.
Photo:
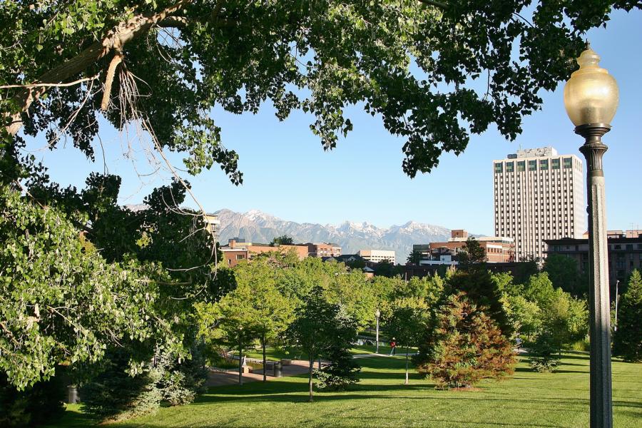
[{"label": "dark, deeply shadowed bush in the bottom left corner", "polygon": [[0,427],[35,427],[54,422],[65,409],[66,382],[61,375],[19,391],[0,374]]}]

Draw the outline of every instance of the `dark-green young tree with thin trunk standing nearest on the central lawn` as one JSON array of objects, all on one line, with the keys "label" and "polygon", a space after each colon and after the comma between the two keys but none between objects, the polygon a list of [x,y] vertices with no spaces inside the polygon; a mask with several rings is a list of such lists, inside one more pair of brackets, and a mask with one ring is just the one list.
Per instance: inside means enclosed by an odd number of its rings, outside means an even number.
[{"label": "dark-green young tree with thin trunk standing nearest on the central lawn", "polygon": [[323,289],[317,286],[304,298],[296,310],[295,320],[287,329],[290,342],[299,346],[310,362],[310,402],[313,401],[312,370],[315,360],[337,344],[350,344],[357,337],[354,322],[345,322],[345,317],[340,314],[340,305],[327,302]]}]

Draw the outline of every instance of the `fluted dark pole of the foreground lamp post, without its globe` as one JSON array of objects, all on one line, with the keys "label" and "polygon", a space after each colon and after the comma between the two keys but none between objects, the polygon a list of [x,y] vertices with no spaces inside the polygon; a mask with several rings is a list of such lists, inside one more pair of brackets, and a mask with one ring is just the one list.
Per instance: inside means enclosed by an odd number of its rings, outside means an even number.
[{"label": "fluted dark pole of the foreground lamp post, without its globe", "polygon": [[591,342],[591,428],[612,428],[611,302],[608,292],[608,242],[606,190],[602,156],[607,146],[602,136],[611,130],[606,123],[577,126],[586,140],[580,151],[586,158],[588,189],[588,335]]}]

